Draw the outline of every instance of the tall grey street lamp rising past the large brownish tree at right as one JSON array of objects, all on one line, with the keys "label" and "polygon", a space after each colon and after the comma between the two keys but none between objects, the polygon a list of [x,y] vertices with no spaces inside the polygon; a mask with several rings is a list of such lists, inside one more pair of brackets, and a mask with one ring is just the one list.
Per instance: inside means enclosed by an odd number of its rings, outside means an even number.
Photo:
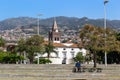
[{"label": "tall grey street lamp rising past the large brownish tree at right", "polygon": [[[108,0],[104,0],[105,48],[106,48],[106,3],[108,3]],[[106,50],[105,50],[105,66],[107,66],[107,52],[106,52]]]}]

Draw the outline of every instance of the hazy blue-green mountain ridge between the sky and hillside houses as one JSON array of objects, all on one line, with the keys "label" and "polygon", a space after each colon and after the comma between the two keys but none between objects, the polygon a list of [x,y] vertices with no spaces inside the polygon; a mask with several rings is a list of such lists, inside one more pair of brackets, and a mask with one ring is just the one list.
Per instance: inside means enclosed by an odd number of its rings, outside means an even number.
[{"label": "hazy blue-green mountain ridge between the sky and hillside houses", "polygon": [[[40,28],[42,30],[49,30],[53,25],[54,18],[40,19]],[[61,29],[78,29],[83,27],[84,24],[92,24],[95,26],[103,26],[103,19],[89,19],[87,17],[56,17],[57,24]],[[15,27],[33,27],[37,26],[37,18],[31,17],[18,17],[10,18],[0,21],[0,30],[13,29]],[[119,28],[120,20],[107,20],[107,27]]]}]

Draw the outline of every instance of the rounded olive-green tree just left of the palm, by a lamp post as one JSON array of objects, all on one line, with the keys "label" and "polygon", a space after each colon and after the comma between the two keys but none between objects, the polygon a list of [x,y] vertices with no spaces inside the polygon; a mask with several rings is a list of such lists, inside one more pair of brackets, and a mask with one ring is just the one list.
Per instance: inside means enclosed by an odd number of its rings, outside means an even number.
[{"label": "rounded olive-green tree just left of the palm, by a lamp post", "polygon": [[34,35],[26,40],[26,52],[28,53],[27,57],[30,59],[30,63],[33,63],[36,53],[44,51],[43,42],[43,37],[39,35]]}]

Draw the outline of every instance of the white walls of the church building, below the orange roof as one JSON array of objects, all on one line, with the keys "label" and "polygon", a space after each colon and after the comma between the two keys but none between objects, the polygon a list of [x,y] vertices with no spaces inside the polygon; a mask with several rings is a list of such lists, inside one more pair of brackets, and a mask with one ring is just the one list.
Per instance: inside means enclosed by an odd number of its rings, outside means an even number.
[{"label": "white walls of the church building, below the orange roof", "polygon": [[[83,56],[86,55],[85,49],[79,49],[79,48],[69,48],[69,47],[57,47],[55,49],[58,52],[58,55],[55,53],[51,53],[50,60],[52,61],[52,64],[62,64],[62,62],[66,62],[66,64],[71,63],[71,59],[77,55],[78,52],[82,52]],[[42,57],[46,57],[47,53],[42,55]],[[66,56],[66,60],[64,60]]]}]

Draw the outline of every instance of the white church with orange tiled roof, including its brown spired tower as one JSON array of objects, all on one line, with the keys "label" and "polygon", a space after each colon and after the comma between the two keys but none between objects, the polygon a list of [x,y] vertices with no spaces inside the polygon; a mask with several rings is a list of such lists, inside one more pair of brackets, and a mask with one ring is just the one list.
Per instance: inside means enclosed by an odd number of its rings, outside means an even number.
[{"label": "white church with orange tiled roof, including its brown spired tower", "polygon": [[[78,45],[72,42],[61,43],[61,33],[58,29],[56,20],[54,20],[52,30],[49,32],[49,41],[53,42],[55,47],[55,53],[51,53],[50,60],[51,64],[71,64],[73,63],[73,58],[78,52],[81,52],[83,56],[86,55],[86,50],[84,48],[78,48]],[[47,53],[44,55],[38,55],[39,57],[46,57]]]}]

